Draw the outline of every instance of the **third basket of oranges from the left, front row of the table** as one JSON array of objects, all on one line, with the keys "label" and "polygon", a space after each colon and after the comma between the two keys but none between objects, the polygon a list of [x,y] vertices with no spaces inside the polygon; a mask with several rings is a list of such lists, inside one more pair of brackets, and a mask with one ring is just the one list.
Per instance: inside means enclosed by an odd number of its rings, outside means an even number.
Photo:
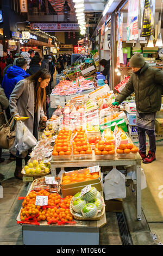
[{"label": "third basket of oranges from the left, front row of the table", "polygon": [[96,160],[114,159],[115,146],[110,141],[99,141],[95,146]]}]

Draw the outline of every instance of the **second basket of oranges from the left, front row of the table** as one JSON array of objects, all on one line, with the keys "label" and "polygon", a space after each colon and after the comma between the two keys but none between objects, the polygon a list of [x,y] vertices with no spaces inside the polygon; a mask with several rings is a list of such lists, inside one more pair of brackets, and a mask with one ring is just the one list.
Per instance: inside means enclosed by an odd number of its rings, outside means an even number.
[{"label": "second basket of oranges from the left, front row of the table", "polygon": [[[75,136],[76,135],[76,136]],[[73,159],[92,159],[92,149],[85,131],[77,131],[72,142]]]}]

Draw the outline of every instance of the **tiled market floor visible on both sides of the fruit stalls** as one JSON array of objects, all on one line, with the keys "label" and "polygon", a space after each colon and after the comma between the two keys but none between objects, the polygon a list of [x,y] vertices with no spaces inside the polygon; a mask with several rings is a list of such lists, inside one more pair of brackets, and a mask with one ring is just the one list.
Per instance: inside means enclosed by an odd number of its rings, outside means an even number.
[{"label": "tiled market floor visible on both sides of the fruit stalls", "polygon": [[[163,185],[163,146],[157,149],[157,160],[152,164],[143,164],[147,185],[142,190],[142,221],[137,221],[136,197],[127,187],[127,198],[123,200],[123,210],[134,245],[153,245],[163,243],[163,197],[160,186]],[[9,151],[3,151],[5,162],[0,164],[0,173],[4,175],[1,181],[3,186],[3,199],[0,199],[0,245],[22,245],[22,227],[16,223],[16,217],[21,208],[19,196],[26,196],[27,183],[14,178],[15,161],[8,161]],[[144,215],[145,214],[145,215]],[[107,224],[100,230],[100,245],[122,245],[115,213],[106,213]],[[152,239],[152,233],[157,240]]]}]

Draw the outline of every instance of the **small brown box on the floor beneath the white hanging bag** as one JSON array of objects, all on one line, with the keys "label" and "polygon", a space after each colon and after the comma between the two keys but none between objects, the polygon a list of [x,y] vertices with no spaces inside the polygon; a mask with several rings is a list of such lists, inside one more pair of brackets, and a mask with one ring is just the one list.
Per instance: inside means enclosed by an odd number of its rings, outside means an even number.
[{"label": "small brown box on the floor beneath the white hanging bag", "polygon": [[121,198],[105,200],[105,211],[106,212],[122,212],[122,202]]}]

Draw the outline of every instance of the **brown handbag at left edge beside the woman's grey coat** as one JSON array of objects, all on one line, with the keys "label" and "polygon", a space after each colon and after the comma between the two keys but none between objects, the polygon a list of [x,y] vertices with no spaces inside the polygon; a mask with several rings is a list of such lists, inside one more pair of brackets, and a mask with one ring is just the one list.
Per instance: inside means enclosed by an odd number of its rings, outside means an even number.
[{"label": "brown handbag at left edge beside the woman's grey coat", "polygon": [[13,122],[14,117],[11,117],[7,124],[0,127],[0,148],[2,149],[10,149],[15,141],[15,124],[12,125]]}]

